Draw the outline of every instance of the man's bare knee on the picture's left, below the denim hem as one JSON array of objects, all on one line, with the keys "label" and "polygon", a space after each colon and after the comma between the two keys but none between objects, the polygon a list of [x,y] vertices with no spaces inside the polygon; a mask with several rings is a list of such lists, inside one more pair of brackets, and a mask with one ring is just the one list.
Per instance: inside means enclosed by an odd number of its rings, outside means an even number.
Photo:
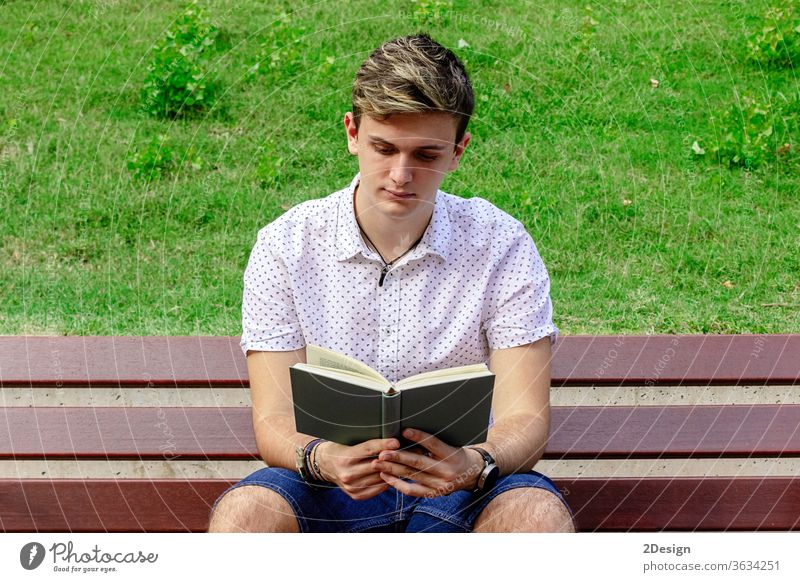
[{"label": "man's bare knee on the picture's left, below the denim hem", "polygon": [[208,531],[293,533],[299,528],[292,507],[278,493],[243,485],[219,500],[211,514]]}]

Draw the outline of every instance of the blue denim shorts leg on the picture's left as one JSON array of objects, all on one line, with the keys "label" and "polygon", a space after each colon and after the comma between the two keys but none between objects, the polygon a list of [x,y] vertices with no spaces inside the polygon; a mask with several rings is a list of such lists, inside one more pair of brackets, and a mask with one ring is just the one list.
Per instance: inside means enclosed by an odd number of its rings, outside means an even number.
[{"label": "blue denim shorts leg on the picture's left", "polygon": [[[294,471],[266,467],[248,475],[225,493],[245,485],[265,487],[283,497],[294,511],[301,532],[385,529],[400,519],[398,495],[394,489],[372,499],[356,501],[336,486],[309,485]],[[218,502],[219,499],[214,505]]]}]

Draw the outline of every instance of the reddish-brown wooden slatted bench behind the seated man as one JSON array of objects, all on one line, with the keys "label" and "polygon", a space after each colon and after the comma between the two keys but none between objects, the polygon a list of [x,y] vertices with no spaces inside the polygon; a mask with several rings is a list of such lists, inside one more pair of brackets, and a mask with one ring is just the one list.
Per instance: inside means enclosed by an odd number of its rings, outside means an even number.
[{"label": "reddish-brown wooden slatted bench behind the seated man", "polygon": [[[203,531],[262,466],[231,337],[0,337],[0,530]],[[560,338],[580,531],[800,529],[800,335]]]}]

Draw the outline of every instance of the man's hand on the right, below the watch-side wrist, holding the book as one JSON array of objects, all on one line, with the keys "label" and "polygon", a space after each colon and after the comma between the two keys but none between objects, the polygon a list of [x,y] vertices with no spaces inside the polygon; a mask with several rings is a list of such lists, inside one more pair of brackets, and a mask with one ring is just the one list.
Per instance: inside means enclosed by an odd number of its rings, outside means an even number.
[{"label": "man's hand on the right, below the watch-side wrist, holding the book", "polygon": [[415,497],[438,497],[475,487],[483,468],[483,457],[478,451],[451,447],[421,430],[406,429],[403,436],[423,447],[427,455],[410,450],[381,451],[372,465],[386,483]]}]

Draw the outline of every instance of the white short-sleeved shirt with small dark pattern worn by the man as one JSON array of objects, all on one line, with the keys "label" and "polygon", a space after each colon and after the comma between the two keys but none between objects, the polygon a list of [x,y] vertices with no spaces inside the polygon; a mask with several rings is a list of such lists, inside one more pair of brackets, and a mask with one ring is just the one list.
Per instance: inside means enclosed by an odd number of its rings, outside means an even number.
[{"label": "white short-sleeved shirt with small dark pattern worn by the man", "polygon": [[550,278],[523,224],[482,198],[439,190],[417,247],[378,286],[349,187],[262,228],[244,274],[242,350],[307,343],[354,357],[390,382],[487,362],[489,349],[550,336]]}]

